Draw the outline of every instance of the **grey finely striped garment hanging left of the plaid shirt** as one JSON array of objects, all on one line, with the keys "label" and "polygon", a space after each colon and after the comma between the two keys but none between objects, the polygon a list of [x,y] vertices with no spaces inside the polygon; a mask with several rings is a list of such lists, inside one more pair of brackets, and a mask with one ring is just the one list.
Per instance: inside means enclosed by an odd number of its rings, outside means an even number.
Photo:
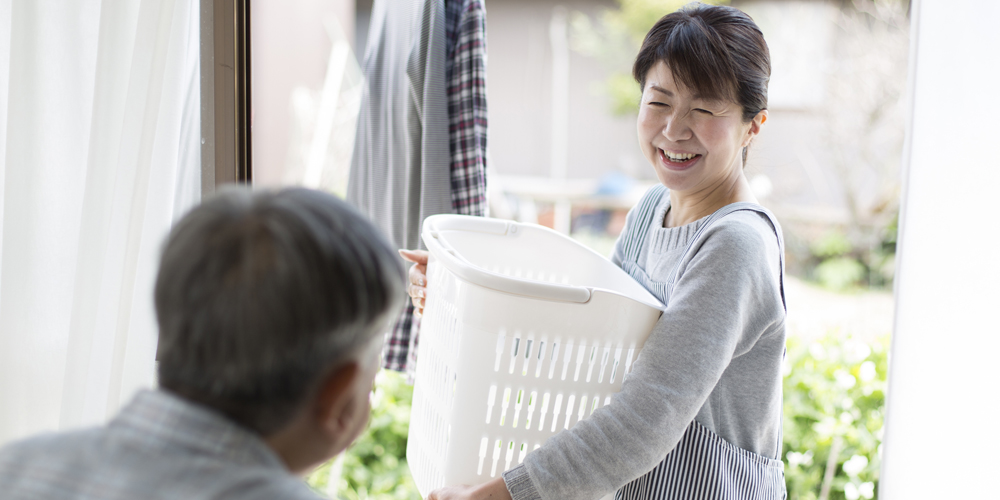
[{"label": "grey finely striped garment hanging left of the plaid shirt", "polygon": [[443,0],[372,5],[347,199],[400,248],[451,213]]}]

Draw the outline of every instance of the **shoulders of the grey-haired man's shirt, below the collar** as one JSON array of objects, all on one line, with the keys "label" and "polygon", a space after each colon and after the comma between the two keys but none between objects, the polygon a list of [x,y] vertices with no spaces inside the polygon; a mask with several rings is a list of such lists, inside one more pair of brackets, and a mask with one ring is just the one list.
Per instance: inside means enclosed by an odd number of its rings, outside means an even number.
[{"label": "shoulders of the grey-haired man's shirt, below the collar", "polygon": [[319,498],[283,469],[143,444],[107,427],[17,441],[0,448],[0,491],[5,500]]}]

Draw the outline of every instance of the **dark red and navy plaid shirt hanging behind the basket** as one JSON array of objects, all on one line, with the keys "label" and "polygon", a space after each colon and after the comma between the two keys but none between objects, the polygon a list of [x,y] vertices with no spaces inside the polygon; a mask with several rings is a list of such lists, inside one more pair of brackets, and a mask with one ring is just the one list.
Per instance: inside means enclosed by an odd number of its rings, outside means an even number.
[{"label": "dark red and navy plaid shirt hanging behind the basket", "polygon": [[[486,10],[480,0],[445,0],[451,206],[486,215]],[[420,320],[407,305],[386,339],[383,366],[412,375]]]}]

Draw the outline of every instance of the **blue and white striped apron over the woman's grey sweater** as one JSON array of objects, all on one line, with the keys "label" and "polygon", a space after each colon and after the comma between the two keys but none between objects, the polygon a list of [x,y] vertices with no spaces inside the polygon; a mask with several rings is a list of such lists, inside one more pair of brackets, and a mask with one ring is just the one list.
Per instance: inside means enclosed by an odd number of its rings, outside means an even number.
[{"label": "blue and white striped apron over the woman's grey sweater", "polygon": [[[684,256],[678,260],[668,275],[670,281],[653,281],[637,264],[649,234],[649,227],[657,215],[657,206],[667,192],[663,186],[651,189],[639,202],[636,221],[629,228],[624,242],[622,269],[641,283],[663,304],[667,304],[677,281],[677,271]],[[749,203],[735,203],[715,212],[701,225],[691,239],[693,244],[701,234],[719,219],[739,210],[750,210],[767,216],[778,237],[781,253],[781,296],[784,301],[784,250],[780,226],[770,213]],[[688,246],[685,255],[691,251]],[[778,450],[781,433],[778,433]],[[739,448],[722,439],[708,428],[692,421],[677,446],[649,473],[626,484],[618,490],[616,500],[651,499],[783,499],[785,492],[784,464]]]}]

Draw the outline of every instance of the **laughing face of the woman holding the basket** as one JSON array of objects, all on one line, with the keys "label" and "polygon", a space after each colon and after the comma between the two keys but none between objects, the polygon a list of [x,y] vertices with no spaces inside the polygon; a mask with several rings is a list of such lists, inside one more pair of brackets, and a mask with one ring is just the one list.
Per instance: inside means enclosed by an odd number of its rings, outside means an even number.
[{"label": "laughing face of the woman holding the basket", "polygon": [[637,128],[639,146],[660,182],[676,194],[710,194],[742,175],[743,147],[766,117],[743,121],[741,107],[706,100],[656,63],[646,74]]}]

